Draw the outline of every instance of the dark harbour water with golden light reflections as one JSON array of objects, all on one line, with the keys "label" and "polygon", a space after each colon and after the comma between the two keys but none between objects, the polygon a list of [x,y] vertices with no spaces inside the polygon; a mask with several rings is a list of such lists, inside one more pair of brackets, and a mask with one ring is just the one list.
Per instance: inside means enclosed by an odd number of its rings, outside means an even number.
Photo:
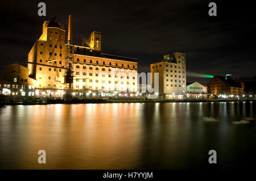
[{"label": "dark harbour water with golden light reflections", "polygon": [[212,149],[214,167],[246,169],[255,113],[253,102],[0,107],[0,169],[207,169]]}]

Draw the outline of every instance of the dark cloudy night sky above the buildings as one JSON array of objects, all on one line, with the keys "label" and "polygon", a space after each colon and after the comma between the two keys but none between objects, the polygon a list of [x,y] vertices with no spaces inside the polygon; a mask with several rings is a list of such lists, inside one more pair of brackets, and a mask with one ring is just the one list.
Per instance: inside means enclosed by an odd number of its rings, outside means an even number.
[{"label": "dark cloudy night sky above the buildings", "polygon": [[[47,16],[38,16],[45,2]],[[1,2],[0,66],[25,64],[42,33],[44,20],[56,17],[67,30],[73,15],[73,41],[81,45],[90,32],[102,33],[102,52],[138,58],[139,72],[149,72],[164,54],[187,54],[187,82],[205,85],[193,73],[250,77],[256,75],[256,13],[253,1],[5,1]]]}]

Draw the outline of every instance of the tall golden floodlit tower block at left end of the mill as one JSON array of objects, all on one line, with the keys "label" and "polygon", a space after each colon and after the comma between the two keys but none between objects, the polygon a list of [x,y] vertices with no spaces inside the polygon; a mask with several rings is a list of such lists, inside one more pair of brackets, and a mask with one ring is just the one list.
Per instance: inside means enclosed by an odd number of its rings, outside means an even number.
[{"label": "tall golden floodlit tower block at left end of the mill", "polygon": [[28,53],[29,76],[38,89],[64,89],[65,30],[63,24],[45,21],[39,40]]}]

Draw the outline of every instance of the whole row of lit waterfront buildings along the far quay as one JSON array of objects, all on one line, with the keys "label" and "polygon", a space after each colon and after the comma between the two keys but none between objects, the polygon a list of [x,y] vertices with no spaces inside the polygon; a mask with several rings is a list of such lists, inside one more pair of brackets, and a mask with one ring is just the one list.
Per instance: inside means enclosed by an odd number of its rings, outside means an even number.
[{"label": "whole row of lit waterfront buildings along the far quay", "polygon": [[[138,84],[138,60],[102,53],[100,32],[90,34],[89,44],[72,44],[72,24],[68,38],[64,25],[43,23],[42,35],[28,53],[27,68],[7,65],[0,77],[0,94],[12,96],[63,97],[67,54],[72,51],[72,95],[75,98],[135,98],[155,94],[159,99],[208,99],[254,96],[255,78],[232,79],[232,75],[215,75],[207,86],[187,83],[186,54],[166,54],[150,65],[151,82]],[[158,73],[155,78],[154,74]],[[154,92],[143,92],[155,88]],[[145,89],[146,88],[146,89]],[[142,91],[143,90],[143,91]]]}]

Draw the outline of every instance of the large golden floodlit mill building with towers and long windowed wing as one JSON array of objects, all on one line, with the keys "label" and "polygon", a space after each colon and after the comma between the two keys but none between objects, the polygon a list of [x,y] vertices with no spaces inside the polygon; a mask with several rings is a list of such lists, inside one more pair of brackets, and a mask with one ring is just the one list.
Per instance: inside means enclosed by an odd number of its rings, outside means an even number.
[{"label": "large golden floodlit mill building with towers and long windowed wing", "polygon": [[[72,42],[72,24],[69,31]],[[28,53],[29,76],[37,89],[65,88],[65,33],[63,24],[43,23],[42,35]],[[137,59],[101,53],[100,32],[90,34],[90,47],[72,46],[74,90],[137,92]]]}]

